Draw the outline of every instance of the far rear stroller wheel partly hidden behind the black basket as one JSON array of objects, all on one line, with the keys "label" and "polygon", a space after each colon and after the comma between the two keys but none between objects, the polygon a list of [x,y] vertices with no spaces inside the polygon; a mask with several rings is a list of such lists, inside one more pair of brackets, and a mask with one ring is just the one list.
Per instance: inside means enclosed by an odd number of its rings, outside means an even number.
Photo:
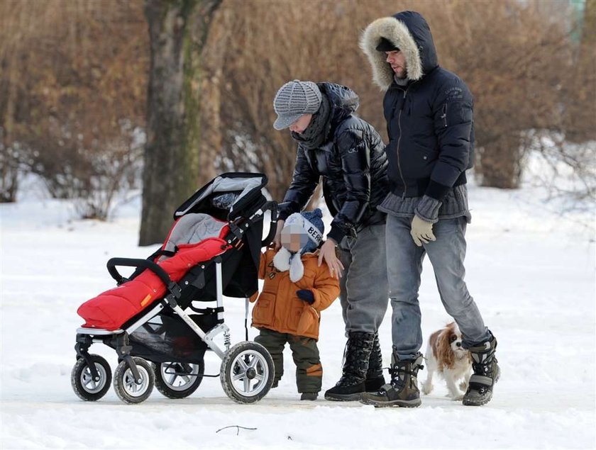
[{"label": "far rear stroller wheel partly hidden behind the black basket", "polygon": [[153,364],[155,388],[167,398],[186,398],[203,381],[205,364],[161,363]]}]

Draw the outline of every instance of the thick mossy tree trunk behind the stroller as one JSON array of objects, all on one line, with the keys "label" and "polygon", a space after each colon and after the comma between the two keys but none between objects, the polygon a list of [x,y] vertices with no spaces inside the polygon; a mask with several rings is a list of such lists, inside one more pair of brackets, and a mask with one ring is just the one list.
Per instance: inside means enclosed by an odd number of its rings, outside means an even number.
[{"label": "thick mossy tree trunk behind the stroller", "polygon": [[202,47],[221,0],[146,0],[151,63],[140,245],[162,242],[199,186]]}]

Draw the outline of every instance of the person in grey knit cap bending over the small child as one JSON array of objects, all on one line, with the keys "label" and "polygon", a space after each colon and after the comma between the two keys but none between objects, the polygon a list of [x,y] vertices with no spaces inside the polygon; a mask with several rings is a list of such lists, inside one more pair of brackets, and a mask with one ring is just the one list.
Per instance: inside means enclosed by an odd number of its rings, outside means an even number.
[{"label": "person in grey knit cap bending over the small child", "polygon": [[387,195],[385,145],[375,128],[353,114],[358,96],[345,86],[289,81],[277,91],[273,107],[274,128],[289,128],[298,144],[277,230],[307,206],[322,177],[333,220],[319,266],[325,260],[338,279],[344,271],[340,300],[348,342],[341,379],[325,398],[360,400],[366,390],[376,392],[385,384],[377,335],[388,302],[385,213],[377,210]]}]

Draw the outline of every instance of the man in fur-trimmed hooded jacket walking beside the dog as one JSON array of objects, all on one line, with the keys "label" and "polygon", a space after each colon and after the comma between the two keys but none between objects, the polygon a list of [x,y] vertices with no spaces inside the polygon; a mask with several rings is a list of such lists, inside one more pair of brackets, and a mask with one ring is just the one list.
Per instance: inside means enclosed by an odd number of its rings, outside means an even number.
[{"label": "man in fur-trimmed hooded jacket walking beside the dog", "polygon": [[464,405],[490,401],[499,377],[497,340],[463,281],[465,228],[470,222],[465,170],[473,165],[473,98],[455,74],[439,67],[431,30],[413,11],[380,18],[365,29],[360,47],[373,67],[383,101],[389,145],[385,148],[390,193],[379,209],[387,215],[387,271],[393,308],[390,384],[363,395],[375,406],[421,404],[421,313],[418,289],[425,254],[438,293],[465,335],[474,374]]}]

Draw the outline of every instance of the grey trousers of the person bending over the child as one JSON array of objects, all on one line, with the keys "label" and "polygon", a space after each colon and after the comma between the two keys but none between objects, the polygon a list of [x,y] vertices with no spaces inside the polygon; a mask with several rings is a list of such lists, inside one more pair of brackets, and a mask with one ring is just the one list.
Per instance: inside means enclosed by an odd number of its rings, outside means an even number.
[{"label": "grey trousers of the person bending over the child", "polygon": [[345,269],[339,285],[346,333],[376,333],[389,303],[385,224],[365,227],[357,237],[344,237],[338,249]]}]

